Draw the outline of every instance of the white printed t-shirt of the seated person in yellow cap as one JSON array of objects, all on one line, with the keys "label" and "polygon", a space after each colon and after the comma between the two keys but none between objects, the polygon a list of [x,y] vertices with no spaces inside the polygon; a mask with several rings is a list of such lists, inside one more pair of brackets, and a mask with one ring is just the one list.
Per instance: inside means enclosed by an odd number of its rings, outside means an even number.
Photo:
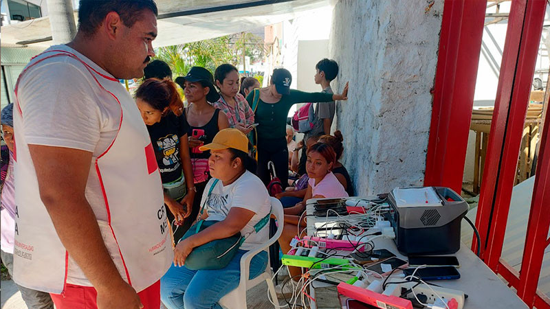
[{"label": "white printed t-shirt of the seated person in yellow cap", "polygon": [[[206,198],[208,198],[208,191],[212,187],[212,183],[214,183],[214,179],[210,179],[206,184],[206,188],[202,194],[201,207],[204,205]],[[262,181],[256,175],[246,171],[230,185],[223,186],[223,183],[218,181],[204,207],[204,211],[208,211],[208,218],[206,220],[221,221],[225,219],[231,207],[254,211],[255,214],[252,219],[241,229],[241,234],[246,236],[251,231],[254,231],[254,225],[259,220],[271,212],[270,195],[267,193],[267,189]],[[252,232],[245,242],[243,242],[240,249],[254,249],[256,245],[263,244],[268,238],[269,229],[265,225],[258,233]]]}]

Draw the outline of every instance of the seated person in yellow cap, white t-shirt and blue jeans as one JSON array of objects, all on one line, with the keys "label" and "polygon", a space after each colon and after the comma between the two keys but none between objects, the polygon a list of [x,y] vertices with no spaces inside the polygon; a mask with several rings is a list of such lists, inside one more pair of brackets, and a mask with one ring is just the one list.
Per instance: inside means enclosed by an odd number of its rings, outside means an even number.
[{"label": "seated person in yellow cap, white t-shirt and blue jeans", "polygon": [[[267,228],[254,232],[255,225],[270,214],[271,204],[262,181],[250,172],[255,171],[256,161],[248,155],[248,138],[237,129],[227,128],[200,150],[210,150],[212,179],[202,195],[205,211],[199,218],[219,222],[176,245],[174,264],[160,280],[161,299],[168,309],[221,308],[218,301],[239,286],[243,254],[269,238]],[[239,231],[248,237],[227,266],[198,271],[186,267],[186,258],[194,248]],[[266,266],[267,252],[261,251],[250,262],[250,279],[263,273]]]}]

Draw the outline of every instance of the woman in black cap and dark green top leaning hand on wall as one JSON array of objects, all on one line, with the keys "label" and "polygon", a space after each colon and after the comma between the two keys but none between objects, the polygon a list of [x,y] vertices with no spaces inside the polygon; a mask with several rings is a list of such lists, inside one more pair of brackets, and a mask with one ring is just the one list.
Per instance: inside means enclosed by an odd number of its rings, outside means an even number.
[{"label": "woman in black cap and dark green top leaning hand on wall", "polygon": [[348,84],[342,94],[308,93],[290,89],[292,75],[287,69],[274,69],[271,84],[254,89],[246,100],[254,111],[254,121],[259,124],[256,130],[258,151],[257,175],[267,185],[270,172],[267,163],[272,161],[275,172],[283,187],[288,184],[288,150],[286,124],[290,107],[301,102],[332,102],[347,100]]}]

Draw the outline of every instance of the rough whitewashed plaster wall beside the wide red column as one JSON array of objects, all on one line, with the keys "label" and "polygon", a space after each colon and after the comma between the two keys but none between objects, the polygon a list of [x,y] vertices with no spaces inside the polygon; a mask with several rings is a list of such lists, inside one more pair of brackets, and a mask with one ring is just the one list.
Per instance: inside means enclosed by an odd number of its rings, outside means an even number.
[{"label": "rough whitewashed plaster wall beside the wide red column", "polygon": [[358,195],[422,185],[443,0],[340,0],[330,53],[333,89],[349,81],[336,129]]}]

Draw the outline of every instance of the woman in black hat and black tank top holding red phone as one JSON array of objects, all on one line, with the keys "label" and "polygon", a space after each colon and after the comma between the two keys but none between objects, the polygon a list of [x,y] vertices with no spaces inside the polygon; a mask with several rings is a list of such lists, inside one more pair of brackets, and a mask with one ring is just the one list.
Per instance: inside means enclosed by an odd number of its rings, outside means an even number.
[{"label": "woman in black hat and black tank top holding red phone", "polygon": [[186,231],[199,214],[202,192],[209,179],[210,151],[201,151],[199,147],[211,143],[219,130],[229,128],[229,121],[219,108],[212,106],[213,102],[219,100],[219,94],[214,89],[214,77],[207,69],[192,67],[186,76],[180,76],[175,81],[184,89],[188,102],[184,115],[189,124],[187,135],[191,148],[193,180],[197,190],[191,215],[184,222],[183,229]]}]

